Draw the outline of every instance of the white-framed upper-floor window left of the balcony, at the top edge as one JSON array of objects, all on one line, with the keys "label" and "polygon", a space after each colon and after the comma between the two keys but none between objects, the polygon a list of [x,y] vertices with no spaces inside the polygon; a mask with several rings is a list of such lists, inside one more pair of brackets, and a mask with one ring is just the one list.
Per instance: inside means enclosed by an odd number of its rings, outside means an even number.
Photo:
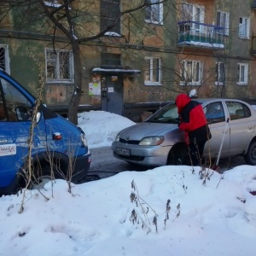
[{"label": "white-framed upper-floor window left of the balcony, at the top edge", "polygon": [[149,5],[145,9],[145,21],[148,23],[163,24],[163,3],[159,3],[160,0],[147,0],[149,3],[155,3]]}]

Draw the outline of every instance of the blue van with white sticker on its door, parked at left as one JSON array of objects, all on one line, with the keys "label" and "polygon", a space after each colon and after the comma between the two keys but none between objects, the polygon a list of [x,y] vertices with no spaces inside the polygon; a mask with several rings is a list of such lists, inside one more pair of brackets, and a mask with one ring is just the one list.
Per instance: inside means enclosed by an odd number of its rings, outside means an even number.
[{"label": "blue van with white sticker on its door, parked at left", "polygon": [[73,183],[84,180],[90,168],[90,150],[84,131],[43,104],[36,113],[31,168],[28,168],[29,134],[36,97],[0,69],[0,195],[30,188],[52,177]]}]

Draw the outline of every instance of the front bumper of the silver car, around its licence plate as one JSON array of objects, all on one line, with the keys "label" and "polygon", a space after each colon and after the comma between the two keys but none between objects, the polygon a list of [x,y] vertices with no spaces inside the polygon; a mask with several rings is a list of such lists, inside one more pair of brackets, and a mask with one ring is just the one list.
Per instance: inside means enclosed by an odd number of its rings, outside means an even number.
[{"label": "front bumper of the silver car, around its licence plate", "polygon": [[[117,153],[117,148],[130,150],[130,155]],[[167,157],[172,146],[138,146],[113,142],[113,156],[119,160],[125,160],[142,166],[166,166]]]}]

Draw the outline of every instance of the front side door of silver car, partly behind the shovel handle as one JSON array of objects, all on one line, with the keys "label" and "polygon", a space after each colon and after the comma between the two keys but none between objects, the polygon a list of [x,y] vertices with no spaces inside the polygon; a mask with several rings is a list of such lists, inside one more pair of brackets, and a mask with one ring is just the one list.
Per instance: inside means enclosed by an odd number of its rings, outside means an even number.
[{"label": "front side door of silver car, partly behind the shovel handle", "polygon": [[218,151],[224,138],[221,155],[228,155],[230,152],[230,129],[227,129],[225,136],[224,130],[226,125],[227,113],[222,101],[209,102],[203,106],[207,118],[207,124],[210,128],[212,138],[207,141],[204,154],[207,157],[218,157]]}]

